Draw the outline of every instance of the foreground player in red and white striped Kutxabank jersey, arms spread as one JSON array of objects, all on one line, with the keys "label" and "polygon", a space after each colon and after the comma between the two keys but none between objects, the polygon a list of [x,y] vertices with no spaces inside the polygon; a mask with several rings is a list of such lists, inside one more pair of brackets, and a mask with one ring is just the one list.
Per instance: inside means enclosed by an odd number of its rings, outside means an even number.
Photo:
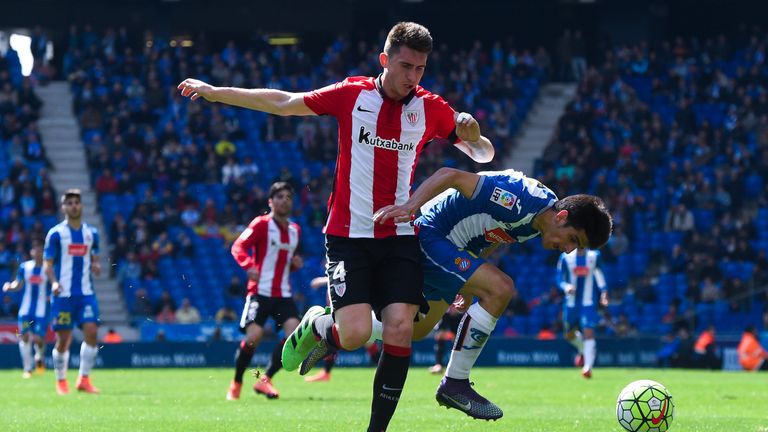
[{"label": "foreground player in red and white striped Kutxabank jersey, arms spread", "polygon": [[[408,200],[418,155],[445,138],[477,162],[489,162],[493,145],[477,121],[456,113],[419,86],[432,36],[416,23],[398,23],[379,54],[384,72],[349,77],[307,93],[179,84],[182,96],[278,115],[331,115],[339,124],[334,190],[325,225],[333,314],[310,308],[283,349],[287,370],[299,367],[317,338],[354,350],[371,334],[371,311],[382,317],[383,353],[373,382],[368,429],[387,428],[400,400],[411,358],[413,318],[422,294],[421,252],[413,227],[374,224],[382,207]],[[311,329],[311,331],[310,331]]]}]

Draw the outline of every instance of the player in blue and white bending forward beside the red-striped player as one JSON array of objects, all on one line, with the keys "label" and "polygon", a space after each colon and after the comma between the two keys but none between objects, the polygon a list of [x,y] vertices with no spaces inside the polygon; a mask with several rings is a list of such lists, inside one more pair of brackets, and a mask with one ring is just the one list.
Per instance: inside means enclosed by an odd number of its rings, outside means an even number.
[{"label": "player in blue and white bending forward beside the red-striped player", "polygon": [[518,171],[473,174],[441,168],[404,205],[381,209],[375,220],[410,220],[420,208],[415,225],[430,309],[414,326],[414,339],[431,331],[458,293],[478,298],[461,320],[436,398],[474,418],[499,418],[501,409],[472,388],[469,373],[516,291],[512,278],[484,258],[501,244],[537,236],[545,249],[599,248],[610,237],[611,216],[597,197],[558,200]]}]

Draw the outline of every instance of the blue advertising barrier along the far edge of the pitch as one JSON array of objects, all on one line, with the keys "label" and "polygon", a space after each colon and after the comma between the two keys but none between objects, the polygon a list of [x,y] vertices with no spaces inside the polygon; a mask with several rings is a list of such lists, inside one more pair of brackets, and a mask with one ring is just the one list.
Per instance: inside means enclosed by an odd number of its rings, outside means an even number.
[{"label": "blue advertising barrier along the far edge of the pitch", "polygon": [[[10,326],[10,325],[9,325]],[[13,326],[15,328],[15,326]],[[15,334],[0,337],[0,369],[21,368]],[[160,337],[163,341],[156,341]],[[147,324],[142,326],[142,341],[101,344],[97,358],[100,368],[160,368],[160,367],[232,367],[240,333],[236,325]],[[2,343],[5,342],[5,343]],[[723,369],[739,369],[735,346],[738,340],[718,340]],[[253,356],[252,365],[265,367],[276,340],[265,340]],[[432,339],[414,342],[412,364],[431,366],[435,362],[435,342]],[[655,367],[656,353],[661,343],[655,337],[626,339],[598,338],[597,367]],[[46,364],[52,367],[48,345]],[[573,366],[575,349],[563,339],[537,340],[526,337],[492,337],[488,340],[478,366]],[[447,357],[446,357],[447,360]],[[72,344],[70,363],[77,367],[80,343]],[[341,366],[368,366],[368,354],[360,349],[339,354]]]}]

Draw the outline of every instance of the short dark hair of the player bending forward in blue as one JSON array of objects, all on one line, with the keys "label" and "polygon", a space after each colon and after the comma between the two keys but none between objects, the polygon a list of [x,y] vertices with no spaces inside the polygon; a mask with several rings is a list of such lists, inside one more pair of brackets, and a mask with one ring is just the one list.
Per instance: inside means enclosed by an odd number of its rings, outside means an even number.
[{"label": "short dark hair of the player bending forward in blue", "polygon": [[583,229],[590,249],[600,249],[608,243],[613,230],[613,218],[600,198],[585,194],[571,195],[557,201],[554,209],[568,212],[566,226]]}]

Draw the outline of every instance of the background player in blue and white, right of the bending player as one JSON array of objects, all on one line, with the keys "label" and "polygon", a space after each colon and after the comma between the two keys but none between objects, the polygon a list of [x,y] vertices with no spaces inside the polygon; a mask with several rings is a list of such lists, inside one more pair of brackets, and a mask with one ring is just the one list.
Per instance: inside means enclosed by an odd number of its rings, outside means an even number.
[{"label": "background player in blue and white, right of the bending player", "polygon": [[557,262],[557,285],[565,293],[565,339],[578,351],[576,365],[582,367],[581,375],[592,378],[597,357],[597,305],[608,306],[608,289],[600,270],[600,251],[576,249],[561,254]]}]

